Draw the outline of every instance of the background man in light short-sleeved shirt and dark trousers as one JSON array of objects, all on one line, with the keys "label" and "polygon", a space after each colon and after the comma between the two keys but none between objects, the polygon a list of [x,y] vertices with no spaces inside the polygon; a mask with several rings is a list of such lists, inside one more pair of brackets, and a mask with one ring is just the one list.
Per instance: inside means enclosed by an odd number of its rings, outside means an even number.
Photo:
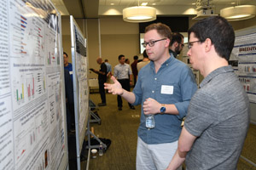
[{"label": "background man in light short-sleeved shirt and dark trousers", "polygon": [[[132,82],[131,67],[130,65],[127,65],[125,63],[125,55],[123,54],[119,55],[119,65],[115,65],[113,69],[113,77],[116,77],[116,79],[121,84],[121,86],[125,90],[130,92],[131,82]],[[122,111],[122,107],[123,107],[122,97],[118,95],[117,100],[118,100],[119,111]],[[130,109],[135,110],[135,107],[131,105],[131,103],[128,102],[128,105]]]}]

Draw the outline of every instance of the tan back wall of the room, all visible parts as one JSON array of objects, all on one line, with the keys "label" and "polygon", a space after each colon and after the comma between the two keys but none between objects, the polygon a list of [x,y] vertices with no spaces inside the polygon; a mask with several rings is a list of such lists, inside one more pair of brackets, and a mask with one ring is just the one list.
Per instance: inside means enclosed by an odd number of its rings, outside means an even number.
[{"label": "tan back wall of the room, all visible parts", "polygon": [[[71,56],[70,25],[69,16],[62,17],[62,40],[63,50]],[[189,17],[189,27],[198,20]],[[102,59],[108,59],[112,65],[119,64],[119,54],[125,54],[126,58],[133,61],[133,56],[139,54],[139,25],[137,23],[125,22],[121,17],[102,19],[76,19],[80,30],[87,38],[89,67],[99,69],[96,58],[102,55]],[[230,22],[234,30],[256,25],[256,18]],[[99,30],[100,28],[100,30]],[[99,35],[99,32],[101,34]],[[70,57],[71,62],[71,57]],[[96,78],[95,73],[90,72],[89,78]],[[200,78],[200,80],[202,77]]]}]

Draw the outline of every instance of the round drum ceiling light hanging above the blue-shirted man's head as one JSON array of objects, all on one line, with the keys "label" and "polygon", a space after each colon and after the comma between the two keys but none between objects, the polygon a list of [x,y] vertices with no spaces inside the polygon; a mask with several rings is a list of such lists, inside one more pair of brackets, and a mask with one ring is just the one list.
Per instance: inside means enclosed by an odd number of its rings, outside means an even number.
[{"label": "round drum ceiling light hanging above the blue-shirted man's head", "polygon": [[148,22],[156,20],[156,9],[153,7],[138,6],[123,9],[123,20],[126,22]]}]

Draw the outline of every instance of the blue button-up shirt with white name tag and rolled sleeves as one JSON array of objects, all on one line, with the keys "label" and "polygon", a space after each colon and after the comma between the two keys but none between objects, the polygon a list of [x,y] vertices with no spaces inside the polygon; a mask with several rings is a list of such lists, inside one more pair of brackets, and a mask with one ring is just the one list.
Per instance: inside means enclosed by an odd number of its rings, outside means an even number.
[{"label": "blue button-up shirt with white name tag and rolled sleeves", "polygon": [[[166,93],[167,88],[168,92]],[[173,88],[170,91],[170,89]],[[141,122],[138,127],[138,136],[146,144],[163,144],[176,141],[181,133],[181,122],[186,116],[189,101],[197,90],[195,77],[191,69],[173,55],[164,62],[160,70],[155,73],[154,62],[150,61],[139,71],[138,79],[133,93],[136,101],[133,105],[142,104]],[[145,126],[143,102],[152,98],[160,104],[174,104],[179,115],[154,115],[155,127],[148,130]]]}]

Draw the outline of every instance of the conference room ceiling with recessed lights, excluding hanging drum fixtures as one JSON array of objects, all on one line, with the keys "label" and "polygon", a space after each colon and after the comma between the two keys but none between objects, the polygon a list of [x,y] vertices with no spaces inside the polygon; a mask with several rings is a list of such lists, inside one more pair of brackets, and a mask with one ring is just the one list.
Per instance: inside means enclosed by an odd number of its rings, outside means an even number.
[{"label": "conference room ceiling with recessed lights, excluding hanging drum fixtures", "polygon": [[74,18],[96,19],[103,17],[122,16],[122,10],[137,6],[138,2],[148,3],[157,9],[157,15],[185,16],[196,14],[196,4],[210,3],[215,14],[221,8],[235,5],[256,5],[256,0],[52,0],[61,15],[73,15]]}]

